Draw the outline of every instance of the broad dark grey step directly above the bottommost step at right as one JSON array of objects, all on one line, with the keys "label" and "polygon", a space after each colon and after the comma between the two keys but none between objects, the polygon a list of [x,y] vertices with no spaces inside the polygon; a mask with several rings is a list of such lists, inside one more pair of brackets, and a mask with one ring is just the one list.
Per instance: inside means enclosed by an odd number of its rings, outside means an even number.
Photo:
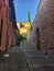
[{"label": "broad dark grey step directly above the bottommost step at right", "polygon": [[30,66],[33,64],[54,64],[54,59],[47,57],[28,57],[26,58]]}]

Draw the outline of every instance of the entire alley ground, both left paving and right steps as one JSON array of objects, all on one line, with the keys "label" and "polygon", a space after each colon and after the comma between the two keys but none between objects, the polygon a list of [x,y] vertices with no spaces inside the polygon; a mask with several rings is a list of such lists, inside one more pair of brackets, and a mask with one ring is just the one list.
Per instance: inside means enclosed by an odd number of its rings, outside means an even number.
[{"label": "entire alley ground, both left paving and right steps", "polygon": [[20,47],[12,47],[0,58],[0,71],[54,71],[54,58],[22,42]]}]

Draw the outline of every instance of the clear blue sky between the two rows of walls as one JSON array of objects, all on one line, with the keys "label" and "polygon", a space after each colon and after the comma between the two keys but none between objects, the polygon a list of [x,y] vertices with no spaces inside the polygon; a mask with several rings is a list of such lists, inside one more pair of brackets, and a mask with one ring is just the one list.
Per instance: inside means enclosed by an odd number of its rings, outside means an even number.
[{"label": "clear blue sky between the two rows of walls", "polygon": [[34,21],[40,0],[14,0],[17,22],[28,21],[28,12],[31,13],[31,22]]}]

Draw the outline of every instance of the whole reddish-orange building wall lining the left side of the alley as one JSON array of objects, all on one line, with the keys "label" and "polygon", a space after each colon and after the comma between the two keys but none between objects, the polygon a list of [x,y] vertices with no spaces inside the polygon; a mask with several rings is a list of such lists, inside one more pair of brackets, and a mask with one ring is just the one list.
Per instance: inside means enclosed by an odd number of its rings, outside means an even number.
[{"label": "whole reddish-orange building wall lining the left side of the alley", "polygon": [[2,51],[6,47],[15,44],[15,27],[13,28],[15,23],[11,19],[12,12],[9,1],[7,0],[6,3],[4,0],[0,0],[0,50]]}]

